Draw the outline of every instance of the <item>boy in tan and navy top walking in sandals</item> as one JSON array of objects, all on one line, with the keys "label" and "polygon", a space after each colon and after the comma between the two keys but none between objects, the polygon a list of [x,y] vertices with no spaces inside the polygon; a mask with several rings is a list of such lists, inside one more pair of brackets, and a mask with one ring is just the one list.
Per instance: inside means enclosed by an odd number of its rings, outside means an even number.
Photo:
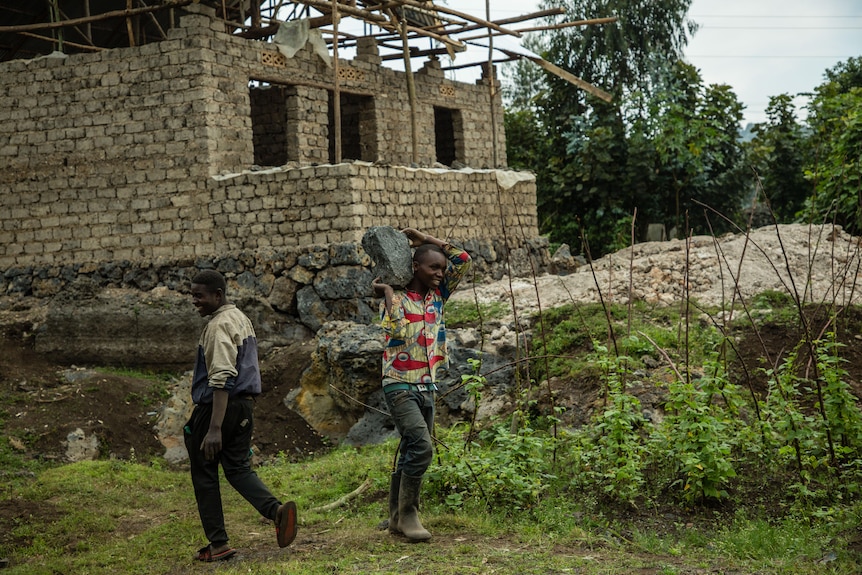
[{"label": "boy in tan and navy top walking in sandals", "polygon": [[192,302],[202,317],[210,316],[201,334],[192,376],[195,408],[185,428],[192,484],[198,513],[209,544],[199,561],[230,559],[224,525],[218,466],[240,495],[258,512],[275,521],[276,540],[286,547],[296,537],[296,504],[282,504],[251,469],[254,398],[260,394],[257,338],[251,321],[225,295],[227,284],[215,270],[192,279]]}]

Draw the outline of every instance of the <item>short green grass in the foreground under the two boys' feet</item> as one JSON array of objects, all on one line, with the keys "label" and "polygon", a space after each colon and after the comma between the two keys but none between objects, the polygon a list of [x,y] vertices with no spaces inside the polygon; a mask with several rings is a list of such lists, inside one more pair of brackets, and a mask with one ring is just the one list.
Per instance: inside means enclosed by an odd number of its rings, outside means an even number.
[{"label": "short green grass in the foreground under the two boys' feet", "polygon": [[[844,544],[859,507],[826,520],[716,514],[715,521],[689,524],[658,511],[636,521],[585,512],[579,494],[552,496],[517,513],[475,503],[452,511],[428,497],[423,520],[434,538],[410,545],[375,528],[385,516],[394,449],[393,443],[342,447],[259,467],[273,492],[300,509],[300,534],[285,550],[276,546],[272,526],[223,481],[227,527],[240,555],[212,566],[192,560],[204,538],[185,470],[159,460],[106,460],[4,474],[3,499],[24,512],[0,535],[0,557],[10,562],[4,573],[850,574],[862,566]],[[366,477],[372,487],[347,505],[311,510]]]}]

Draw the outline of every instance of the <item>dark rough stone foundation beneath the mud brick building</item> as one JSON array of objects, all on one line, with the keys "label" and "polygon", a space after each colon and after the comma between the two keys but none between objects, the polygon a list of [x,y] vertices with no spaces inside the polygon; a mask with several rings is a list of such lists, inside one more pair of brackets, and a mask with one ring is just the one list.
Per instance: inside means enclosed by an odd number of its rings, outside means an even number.
[{"label": "dark rough stone foundation beneath the mud brick building", "polygon": [[[480,240],[460,244],[475,271],[463,289],[474,279],[528,275],[549,264],[543,240],[514,249]],[[45,320],[34,326],[36,349],[57,361],[181,362],[200,329],[188,294],[201,269],[225,275],[229,298],[251,318],[264,349],[307,339],[328,321],[367,324],[377,315],[374,269],[358,242],[14,268],[0,274],[0,293],[48,302]]]}]

